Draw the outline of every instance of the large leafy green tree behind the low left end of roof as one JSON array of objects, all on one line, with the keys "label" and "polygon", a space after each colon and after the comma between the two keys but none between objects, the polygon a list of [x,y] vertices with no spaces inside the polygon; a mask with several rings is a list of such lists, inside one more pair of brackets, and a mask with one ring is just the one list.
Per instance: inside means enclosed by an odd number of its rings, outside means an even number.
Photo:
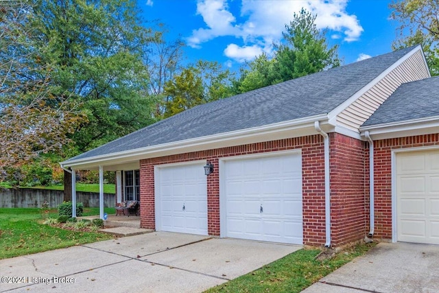
[{"label": "large leafy green tree behind the low left end of roof", "polygon": [[[69,156],[151,124],[143,47],[154,40],[132,0],[36,0],[33,33],[51,81],[82,104],[88,121]],[[59,94],[59,93],[57,93]]]}]

